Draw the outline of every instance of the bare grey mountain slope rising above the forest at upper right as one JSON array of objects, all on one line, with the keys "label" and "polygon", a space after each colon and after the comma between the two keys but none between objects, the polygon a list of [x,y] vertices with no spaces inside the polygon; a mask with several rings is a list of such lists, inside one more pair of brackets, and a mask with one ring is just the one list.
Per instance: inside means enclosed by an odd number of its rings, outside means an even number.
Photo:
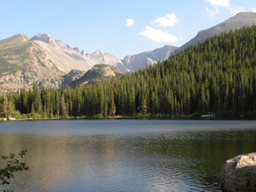
[{"label": "bare grey mountain slope rising above the forest at upper right", "polygon": [[196,42],[205,40],[210,36],[219,35],[222,31],[230,31],[231,29],[235,31],[236,29],[241,29],[243,26],[252,26],[256,24],[256,13],[252,12],[240,12],[234,17],[231,17],[220,24],[213,26],[212,28],[200,31],[195,38],[191,39],[186,44],[182,45],[176,52],[189,47],[191,45],[196,45]]}]

